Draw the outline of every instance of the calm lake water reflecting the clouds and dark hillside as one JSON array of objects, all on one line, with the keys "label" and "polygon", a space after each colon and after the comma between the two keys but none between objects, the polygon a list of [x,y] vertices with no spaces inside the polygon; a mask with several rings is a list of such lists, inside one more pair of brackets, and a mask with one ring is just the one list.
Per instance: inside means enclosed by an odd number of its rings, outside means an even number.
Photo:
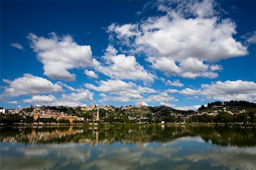
[{"label": "calm lake water reflecting the clouds and dark hillside", "polygon": [[1,128],[0,169],[256,169],[255,129]]}]

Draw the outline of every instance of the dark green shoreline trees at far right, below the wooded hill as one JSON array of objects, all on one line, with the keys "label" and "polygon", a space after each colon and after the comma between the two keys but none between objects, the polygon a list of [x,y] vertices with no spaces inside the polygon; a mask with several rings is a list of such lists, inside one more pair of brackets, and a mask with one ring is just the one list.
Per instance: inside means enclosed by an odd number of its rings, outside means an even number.
[{"label": "dark green shoreline trees at far right, below the wooded hill", "polygon": [[203,115],[197,115],[197,116],[191,116],[188,120],[188,122],[198,122],[198,123],[256,123],[256,116],[255,113],[249,112],[249,113],[240,113],[240,114],[234,114],[231,115],[227,112],[220,112],[217,114],[217,116],[210,116],[208,114]]}]

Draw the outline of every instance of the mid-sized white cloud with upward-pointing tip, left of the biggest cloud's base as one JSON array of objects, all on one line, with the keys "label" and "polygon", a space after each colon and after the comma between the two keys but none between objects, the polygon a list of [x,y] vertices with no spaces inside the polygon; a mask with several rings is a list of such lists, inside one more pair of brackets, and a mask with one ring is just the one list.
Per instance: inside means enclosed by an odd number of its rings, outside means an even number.
[{"label": "mid-sized white cloud with upward-pointing tip, left of the biggest cloud's base", "polygon": [[113,46],[108,46],[105,56],[102,56],[105,65],[94,59],[94,69],[115,79],[143,80],[153,82],[155,75],[148,73],[141,66],[134,56],[125,56],[117,54]]}]

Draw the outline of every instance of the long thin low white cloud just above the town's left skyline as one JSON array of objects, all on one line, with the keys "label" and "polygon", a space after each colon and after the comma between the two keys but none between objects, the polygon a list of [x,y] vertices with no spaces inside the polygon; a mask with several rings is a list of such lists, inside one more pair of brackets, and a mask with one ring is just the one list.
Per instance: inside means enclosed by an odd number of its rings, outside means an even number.
[{"label": "long thin low white cloud just above the town's left skyline", "polygon": [[23,100],[24,103],[31,103],[36,105],[48,105],[48,106],[61,106],[66,105],[69,107],[77,107],[85,105],[82,101],[93,100],[93,93],[80,89],[80,92],[72,92],[70,94],[62,94],[61,97],[56,98],[53,95],[35,95],[30,99]]}]

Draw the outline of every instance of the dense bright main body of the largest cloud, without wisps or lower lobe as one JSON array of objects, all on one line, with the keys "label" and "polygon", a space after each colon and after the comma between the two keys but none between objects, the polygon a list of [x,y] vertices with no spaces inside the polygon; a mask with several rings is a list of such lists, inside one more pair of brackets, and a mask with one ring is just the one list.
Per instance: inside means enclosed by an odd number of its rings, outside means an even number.
[{"label": "dense bright main body of the largest cloud, without wisps or lower lobe", "polygon": [[218,61],[247,54],[247,49],[232,37],[236,24],[230,19],[218,19],[217,16],[187,19],[178,12],[168,11],[142,23],[143,34],[135,43],[144,49],[154,49],[154,56],[177,61],[189,57]]}]

